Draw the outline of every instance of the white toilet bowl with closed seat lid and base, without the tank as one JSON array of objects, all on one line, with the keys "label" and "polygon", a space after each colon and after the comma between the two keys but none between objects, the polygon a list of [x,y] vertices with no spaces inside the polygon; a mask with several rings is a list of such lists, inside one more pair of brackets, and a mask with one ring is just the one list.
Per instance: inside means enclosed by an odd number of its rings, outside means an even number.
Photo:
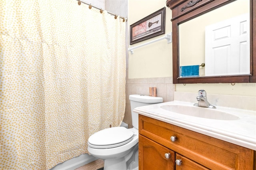
[{"label": "white toilet bowl with closed seat lid and base, without the tank", "polygon": [[[96,138],[100,138],[99,142],[96,142]],[[101,130],[90,136],[88,151],[104,160],[104,170],[137,170],[138,129],[113,127]]]}]

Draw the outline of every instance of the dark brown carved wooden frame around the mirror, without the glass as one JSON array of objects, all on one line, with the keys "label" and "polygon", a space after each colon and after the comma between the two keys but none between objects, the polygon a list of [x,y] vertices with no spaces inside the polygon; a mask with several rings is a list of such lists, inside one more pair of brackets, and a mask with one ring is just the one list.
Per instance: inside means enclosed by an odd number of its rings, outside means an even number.
[{"label": "dark brown carved wooden frame around the mirror, without the glass", "polygon": [[173,83],[255,83],[256,82],[256,0],[250,0],[250,75],[180,77],[178,25],[235,0],[167,0],[172,10]]}]

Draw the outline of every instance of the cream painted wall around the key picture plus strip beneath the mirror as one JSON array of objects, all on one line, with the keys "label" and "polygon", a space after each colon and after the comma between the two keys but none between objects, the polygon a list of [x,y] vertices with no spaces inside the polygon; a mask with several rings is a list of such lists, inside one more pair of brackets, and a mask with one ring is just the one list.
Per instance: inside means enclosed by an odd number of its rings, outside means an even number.
[{"label": "cream painted wall around the key picture plus strip beneath the mirror", "polygon": [[[166,6],[166,0],[128,0],[128,24],[152,14]],[[166,34],[172,32],[171,10],[166,7]],[[152,38],[132,46],[160,38]],[[131,47],[131,45],[129,45]],[[134,54],[128,53],[128,79],[151,78],[151,77],[172,77],[172,43],[166,40],[156,42],[138,49]],[[176,91],[197,92],[204,89],[207,93],[244,95],[256,97],[256,83],[211,83],[211,84],[176,84]],[[228,102],[228,101],[227,101]]]}]

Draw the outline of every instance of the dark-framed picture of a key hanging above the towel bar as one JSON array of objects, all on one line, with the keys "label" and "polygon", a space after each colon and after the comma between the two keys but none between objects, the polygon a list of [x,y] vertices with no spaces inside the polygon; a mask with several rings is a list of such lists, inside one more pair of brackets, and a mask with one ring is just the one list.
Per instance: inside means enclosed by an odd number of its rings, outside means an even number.
[{"label": "dark-framed picture of a key hanging above the towel bar", "polygon": [[165,14],[164,7],[130,25],[130,44],[165,34]]}]

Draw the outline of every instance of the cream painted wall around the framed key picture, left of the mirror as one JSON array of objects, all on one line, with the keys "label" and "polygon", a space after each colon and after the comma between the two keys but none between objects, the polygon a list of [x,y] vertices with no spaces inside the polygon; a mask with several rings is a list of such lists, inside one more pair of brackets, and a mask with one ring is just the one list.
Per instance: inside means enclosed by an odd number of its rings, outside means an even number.
[{"label": "cream painted wall around the framed key picture, left of the mirror", "polygon": [[[166,0],[128,0],[129,26],[163,7],[166,7]],[[171,13],[170,8],[166,7],[166,34],[172,32],[172,23],[170,22]],[[135,47],[163,36],[164,35],[160,35],[143,42],[135,43],[129,45],[129,47]],[[133,54],[130,52],[128,54],[128,78],[134,79],[172,76],[171,53],[172,43],[167,43],[167,40],[161,40],[159,42],[134,49]]]}]

